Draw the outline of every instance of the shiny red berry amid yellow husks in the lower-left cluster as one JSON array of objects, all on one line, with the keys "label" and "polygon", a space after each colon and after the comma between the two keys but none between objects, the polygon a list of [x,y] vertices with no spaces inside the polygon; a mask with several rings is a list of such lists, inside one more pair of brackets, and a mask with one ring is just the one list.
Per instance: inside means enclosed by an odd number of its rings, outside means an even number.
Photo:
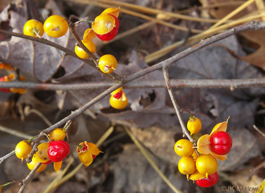
[{"label": "shiny red berry amid yellow husks in the lower-left cluster", "polygon": [[70,152],[69,144],[65,141],[50,141],[48,147],[49,159],[53,162],[60,162],[65,159]]}]

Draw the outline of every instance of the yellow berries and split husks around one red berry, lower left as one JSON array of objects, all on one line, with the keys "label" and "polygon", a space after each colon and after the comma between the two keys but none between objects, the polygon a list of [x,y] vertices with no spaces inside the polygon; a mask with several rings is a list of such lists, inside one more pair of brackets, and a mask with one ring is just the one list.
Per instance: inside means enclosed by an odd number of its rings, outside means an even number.
[{"label": "yellow berries and split husks around one red berry, lower left", "polygon": [[[27,163],[27,166],[32,170],[38,162],[42,163],[37,172],[43,171],[46,166],[54,162],[55,171],[59,172],[63,160],[70,153],[70,147],[67,142],[64,141],[66,132],[64,129],[56,128],[52,130],[48,135],[48,141],[40,143],[37,147],[38,151],[33,155],[32,161]],[[16,148],[16,156],[22,160],[26,159],[32,148],[30,145],[31,139],[20,141]],[[81,142],[77,147],[79,159],[85,166],[89,166],[93,159],[100,153],[97,146],[94,143]]]}]

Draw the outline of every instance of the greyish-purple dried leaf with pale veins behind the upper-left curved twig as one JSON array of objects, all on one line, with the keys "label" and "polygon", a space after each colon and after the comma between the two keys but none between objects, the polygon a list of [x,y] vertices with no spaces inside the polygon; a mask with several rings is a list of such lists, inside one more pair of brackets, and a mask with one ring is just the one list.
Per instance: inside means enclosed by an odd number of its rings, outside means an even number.
[{"label": "greyish-purple dried leaf with pale veins behind the upper-left curved twig", "polygon": [[[0,21],[8,21],[7,15],[10,14],[9,23],[14,32],[22,33],[26,20],[14,11],[2,12]],[[88,28],[88,24],[83,22],[76,26],[79,36]],[[45,33],[42,38],[58,43],[69,50],[74,51],[75,39],[68,32],[60,38],[52,38]],[[26,72],[38,80],[49,80],[62,66],[65,75],[68,76],[77,71],[84,63],[71,56],[64,56],[64,53],[55,47],[51,47],[39,42],[12,37],[10,41],[0,42],[0,55],[6,59],[8,63],[17,67],[22,72]],[[90,67],[92,69],[92,67]],[[89,73],[88,73],[89,74]]]}]

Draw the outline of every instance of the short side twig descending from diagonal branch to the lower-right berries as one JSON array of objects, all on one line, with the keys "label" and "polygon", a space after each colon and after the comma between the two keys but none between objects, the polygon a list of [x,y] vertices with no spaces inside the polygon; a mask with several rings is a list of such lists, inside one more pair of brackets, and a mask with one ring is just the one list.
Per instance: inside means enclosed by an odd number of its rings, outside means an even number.
[{"label": "short side twig descending from diagonal branch to the lower-right berries", "polygon": [[178,103],[176,101],[176,98],[174,96],[174,93],[173,93],[173,91],[171,89],[170,79],[169,79],[169,69],[167,67],[163,68],[163,74],[164,74],[164,78],[165,78],[165,81],[166,81],[167,89],[169,91],[170,99],[171,99],[171,101],[173,103],[174,109],[176,111],[176,114],[177,114],[179,122],[180,122],[180,126],[182,128],[182,132],[183,132],[183,134],[185,134],[188,137],[188,139],[191,142],[193,142],[194,139],[190,136],[189,131],[187,130],[186,125],[184,124],[184,121],[181,118],[180,107],[179,107],[179,105],[178,105]]}]

